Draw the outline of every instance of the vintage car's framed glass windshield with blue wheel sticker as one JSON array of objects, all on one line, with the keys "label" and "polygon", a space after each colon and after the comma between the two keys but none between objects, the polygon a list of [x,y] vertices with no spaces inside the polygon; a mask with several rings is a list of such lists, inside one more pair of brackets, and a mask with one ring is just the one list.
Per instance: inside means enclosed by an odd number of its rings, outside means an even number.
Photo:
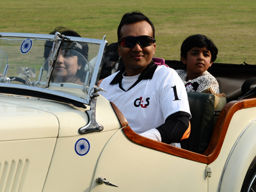
[{"label": "vintage car's framed glass windshield with blue wheel sticker", "polygon": [[0,36],[1,86],[75,100],[77,97],[88,104],[107,44],[105,40],[60,34],[0,33]]}]

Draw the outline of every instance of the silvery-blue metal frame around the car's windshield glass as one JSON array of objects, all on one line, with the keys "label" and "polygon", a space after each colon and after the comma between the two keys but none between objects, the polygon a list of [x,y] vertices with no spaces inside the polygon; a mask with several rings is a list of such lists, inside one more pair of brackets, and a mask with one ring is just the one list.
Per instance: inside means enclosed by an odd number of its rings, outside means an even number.
[{"label": "silvery-blue metal frame around the car's windshield glass", "polygon": [[[31,40],[51,40],[54,41],[54,36],[55,35],[45,35],[45,34],[33,34],[33,33],[1,33],[0,32],[0,40],[1,39],[6,39],[8,38],[22,38],[21,40],[25,40],[26,38],[31,38]],[[41,92],[44,95],[44,98],[47,99],[47,94],[49,94],[49,99],[52,99],[54,95],[63,98],[63,100],[67,100],[68,103],[70,101],[74,100],[74,103],[81,102],[83,104],[90,104],[90,91],[94,90],[95,85],[97,84],[97,81],[99,81],[99,75],[100,75],[100,69],[102,67],[102,58],[104,56],[104,52],[106,50],[106,47],[108,45],[108,42],[104,40],[98,40],[98,39],[93,39],[93,38],[82,38],[82,37],[75,37],[75,36],[65,36],[65,39],[68,39],[68,41],[74,41],[74,42],[86,42],[89,44],[97,44],[99,45],[99,52],[97,54],[97,59],[95,62],[95,68],[92,73],[92,80],[90,82],[90,86],[87,88],[87,98],[83,99],[80,97],[76,97],[74,95],[69,95],[68,93],[63,93],[63,92],[57,92],[54,90],[49,90],[47,88],[38,88],[35,86],[28,86],[28,85],[23,85],[23,84],[10,84],[10,83],[0,83],[0,87],[4,88],[1,90],[1,93],[15,93],[17,95],[25,95],[24,92],[20,92],[20,90],[29,90],[32,95],[39,97],[39,93]],[[58,38],[58,40],[61,40],[61,38]],[[56,60],[54,60],[55,62]],[[33,94],[32,92],[35,92]],[[27,95],[27,94],[26,94]],[[30,95],[29,95],[30,96]],[[67,98],[67,99],[65,99]],[[60,99],[59,99],[60,100]],[[72,103],[72,102],[71,102]],[[77,104],[75,104],[77,106]]]}]

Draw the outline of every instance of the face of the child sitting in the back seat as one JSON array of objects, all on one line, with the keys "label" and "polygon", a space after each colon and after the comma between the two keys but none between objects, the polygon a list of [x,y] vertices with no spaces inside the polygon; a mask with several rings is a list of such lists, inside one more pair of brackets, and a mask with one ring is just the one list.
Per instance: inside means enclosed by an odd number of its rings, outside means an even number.
[{"label": "face of the child sitting in the back seat", "polygon": [[188,78],[195,79],[201,76],[205,70],[211,67],[211,58],[211,52],[206,47],[190,49],[186,59],[181,57],[182,62],[186,65]]}]

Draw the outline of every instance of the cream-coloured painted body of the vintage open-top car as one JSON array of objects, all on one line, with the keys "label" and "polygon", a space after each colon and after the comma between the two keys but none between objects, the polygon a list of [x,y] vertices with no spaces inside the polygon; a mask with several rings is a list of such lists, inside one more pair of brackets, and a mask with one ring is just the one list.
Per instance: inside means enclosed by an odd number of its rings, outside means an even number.
[{"label": "cream-coloured painted body of the vintage open-top car", "polygon": [[[63,92],[68,96],[68,90]],[[163,152],[134,143],[116,109],[104,97],[95,98],[95,117],[104,129],[81,134],[79,129],[90,124],[92,102],[81,108],[35,95],[0,93],[0,191],[241,190],[256,154],[255,107],[234,113],[218,156],[203,163],[193,160],[199,154],[187,150],[170,147]],[[87,142],[86,154],[76,149],[81,140]],[[99,177],[118,188],[100,184]]]}]

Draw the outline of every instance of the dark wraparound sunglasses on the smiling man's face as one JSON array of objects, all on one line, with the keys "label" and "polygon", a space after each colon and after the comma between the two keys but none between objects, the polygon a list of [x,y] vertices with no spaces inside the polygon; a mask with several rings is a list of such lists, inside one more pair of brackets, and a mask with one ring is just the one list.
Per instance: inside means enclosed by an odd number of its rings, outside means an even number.
[{"label": "dark wraparound sunglasses on the smiling man's face", "polygon": [[139,44],[140,47],[148,47],[152,45],[156,40],[152,36],[125,36],[118,40],[118,44],[122,47],[133,48],[136,44]]}]

